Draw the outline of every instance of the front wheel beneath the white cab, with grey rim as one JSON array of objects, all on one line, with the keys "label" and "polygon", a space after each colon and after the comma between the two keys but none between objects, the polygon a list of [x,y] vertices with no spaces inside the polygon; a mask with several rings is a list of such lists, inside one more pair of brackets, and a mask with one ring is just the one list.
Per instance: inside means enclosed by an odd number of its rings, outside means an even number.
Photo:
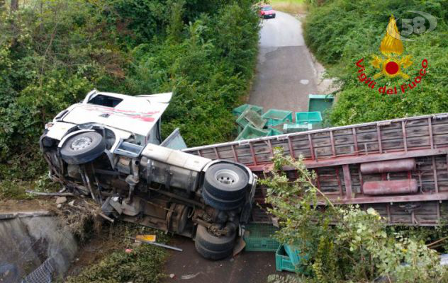
[{"label": "front wheel beneath the white cab, with grey rim", "polygon": [[62,159],[69,164],[94,161],[106,149],[106,142],[97,132],[75,134],[65,141],[61,148]]}]

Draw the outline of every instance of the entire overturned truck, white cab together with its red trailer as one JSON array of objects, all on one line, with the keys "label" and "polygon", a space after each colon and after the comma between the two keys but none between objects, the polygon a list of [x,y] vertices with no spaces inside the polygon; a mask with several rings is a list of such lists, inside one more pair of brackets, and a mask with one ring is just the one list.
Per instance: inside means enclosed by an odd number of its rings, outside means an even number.
[{"label": "entire overturned truck, white cab together with its red trailer", "polygon": [[[257,175],[271,171],[275,147],[303,156],[315,185],[336,204],[374,207],[390,224],[447,219],[448,114],[179,151],[184,146],[172,143],[182,144],[178,132],[160,136],[171,96],[91,91],[60,112],[40,138],[50,178],[90,195],[109,217],[194,238],[210,259],[230,255],[244,233]],[[284,171],[296,178],[292,168]]]}]

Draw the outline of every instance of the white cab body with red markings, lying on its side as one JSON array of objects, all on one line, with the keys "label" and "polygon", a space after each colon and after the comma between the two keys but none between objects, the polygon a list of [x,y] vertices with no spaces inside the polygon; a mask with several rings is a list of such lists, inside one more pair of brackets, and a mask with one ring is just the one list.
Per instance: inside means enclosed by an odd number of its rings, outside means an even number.
[{"label": "white cab body with red markings, lying on its side", "polygon": [[[93,90],[81,103],[62,110],[45,125],[46,136],[61,147],[69,137],[102,127],[112,154],[140,154],[146,144],[160,144],[160,117],[172,93],[126,96]],[[134,153],[134,154],[133,154]]]}]

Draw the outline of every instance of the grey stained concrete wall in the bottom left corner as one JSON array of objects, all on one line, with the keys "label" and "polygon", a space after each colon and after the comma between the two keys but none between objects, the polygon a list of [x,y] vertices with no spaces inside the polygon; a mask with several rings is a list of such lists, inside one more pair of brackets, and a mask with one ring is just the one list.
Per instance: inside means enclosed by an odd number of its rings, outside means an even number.
[{"label": "grey stained concrete wall in the bottom left corner", "polygon": [[57,217],[42,214],[0,215],[0,282],[20,282],[48,258],[56,276],[68,270],[77,242]]}]

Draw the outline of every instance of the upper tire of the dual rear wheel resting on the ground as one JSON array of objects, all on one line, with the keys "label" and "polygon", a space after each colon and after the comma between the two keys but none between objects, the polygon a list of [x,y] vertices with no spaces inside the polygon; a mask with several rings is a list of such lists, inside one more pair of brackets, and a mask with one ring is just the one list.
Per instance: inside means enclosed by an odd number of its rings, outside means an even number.
[{"label": "upper tire of the dual rear wheel resting on the ground", "polygon": [[220,237],[214,236],[208,232],[206,227],[198,225],[194,241],[196,241],[199,245],[201,245],[203,248],[206,248],[207,250],[233,250],[233,246],[235,246],[235,236],[236,231],[232,231],[230,235]]}]

